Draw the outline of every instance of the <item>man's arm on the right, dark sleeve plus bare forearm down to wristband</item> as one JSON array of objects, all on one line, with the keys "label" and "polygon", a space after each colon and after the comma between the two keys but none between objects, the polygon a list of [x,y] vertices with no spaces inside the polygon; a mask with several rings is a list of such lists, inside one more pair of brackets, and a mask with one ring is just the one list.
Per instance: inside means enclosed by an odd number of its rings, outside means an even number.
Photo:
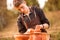
[{"label": "man's arm on the right, dark sleeve plus bare forearm down to wristband", "polygon": [[38,16],[40,17],[40,22],[41,22],[41,26],[43,26],[44,28],[49,28],[50,24],[48,19],[45,17],[44,12],[42,9],[35,7],[35,11],[37,12]]}]

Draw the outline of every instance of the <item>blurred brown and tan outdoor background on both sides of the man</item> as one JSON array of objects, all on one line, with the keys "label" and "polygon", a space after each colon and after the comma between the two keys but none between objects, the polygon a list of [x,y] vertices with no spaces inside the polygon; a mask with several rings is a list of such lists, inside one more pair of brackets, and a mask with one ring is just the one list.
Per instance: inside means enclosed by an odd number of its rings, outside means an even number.
[{"label": "blurred brown and tan outdoor background on both sides of the man", "polygon": [[[51,40],[60,40],[60,0],[25,0],[28,6],[38,6],[43,9],[50,21]],[[0,40],[14,40],[18,33],[18,11],[14,9],[13,0],[0,0]]]}]

